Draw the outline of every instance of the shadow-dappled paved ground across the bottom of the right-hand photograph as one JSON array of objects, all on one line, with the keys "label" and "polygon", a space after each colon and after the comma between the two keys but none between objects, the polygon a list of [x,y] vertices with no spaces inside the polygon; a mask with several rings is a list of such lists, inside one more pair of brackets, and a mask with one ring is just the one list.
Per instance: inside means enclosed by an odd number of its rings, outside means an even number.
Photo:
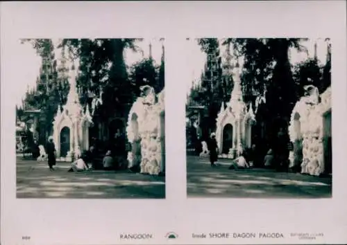
[{"label": "shadow-dappled paved ground across the bottom of the right-hand photograph", "polygon": [[274,170],[228,170],[230,160],[211,167],[208,158],[187,156],[188,197],[330,198],[332,178]]}]

